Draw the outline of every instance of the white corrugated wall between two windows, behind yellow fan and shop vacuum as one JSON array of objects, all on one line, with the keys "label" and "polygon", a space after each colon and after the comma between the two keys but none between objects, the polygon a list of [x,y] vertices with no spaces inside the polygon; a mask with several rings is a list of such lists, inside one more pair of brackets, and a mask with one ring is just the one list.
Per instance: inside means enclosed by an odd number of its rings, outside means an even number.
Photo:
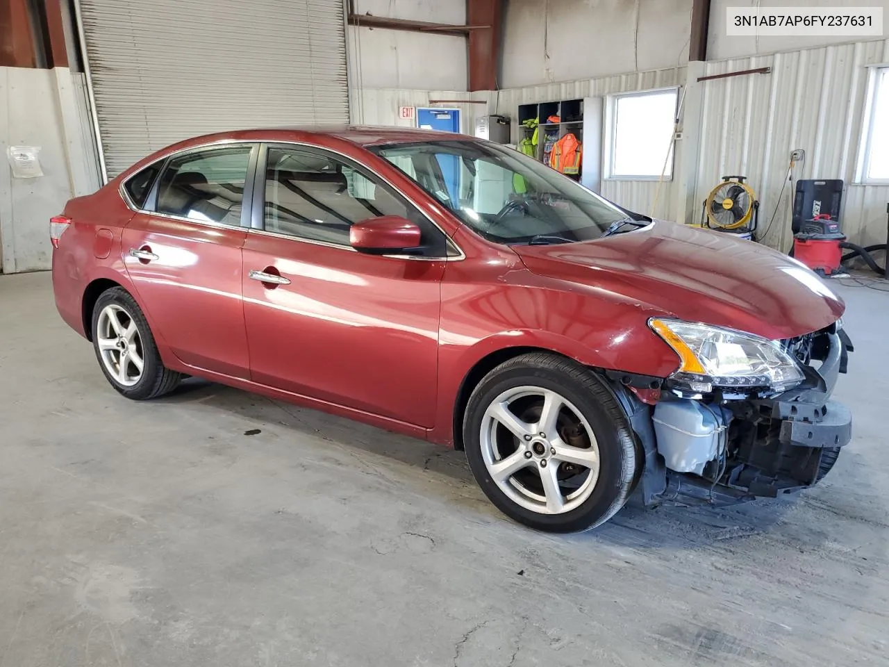
[{"label": "white corrugated wall between two windows, behind yellow fan and shop vacuum", "polygon": [[761,202],[761,231],[774,214],[765,243],[789,250],[794,186],[786,184],[780,204],[779,194],[787,179],[790,151],[805,149],[805,161],[795,167],[794,180],[843,179],[846,235],[861,245],[885,243],[889,186],[853,183],[867,66],[885,62],[889,62],[889,40],[707,63],[707,75],[761,67],[771,67],[772,73],[701,83],[695,198],[702,201],[720,176],[746,175]]}]

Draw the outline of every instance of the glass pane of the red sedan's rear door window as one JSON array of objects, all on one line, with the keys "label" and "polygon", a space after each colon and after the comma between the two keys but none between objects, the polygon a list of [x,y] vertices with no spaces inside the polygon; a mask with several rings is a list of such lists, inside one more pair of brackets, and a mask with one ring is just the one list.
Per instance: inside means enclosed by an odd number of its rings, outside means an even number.
[{"label": "glass pane of the red sedan's rear door window", "polygon": [[172,157],[157,189],[157,213],[238,227],[252,146]]}]

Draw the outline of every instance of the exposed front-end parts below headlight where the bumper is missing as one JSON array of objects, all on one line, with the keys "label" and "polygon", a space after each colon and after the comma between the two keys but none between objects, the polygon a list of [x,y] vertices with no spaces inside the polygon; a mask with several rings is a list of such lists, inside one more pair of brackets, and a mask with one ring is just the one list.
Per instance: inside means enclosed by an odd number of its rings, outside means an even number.
[{"label": "exposed front-end parts below headlight where the bumper is missing", "polygon": [[[723,434],[712,441],[710,451],[715,458],[702,470],[700,457],[694,458],[693,466],[677,466],[677,461],[686,462],[678,455],[669,456],[669,465],[684,471],[668,470],[668,461],[660,451],[662,436],[656,436],[653,428],[657,408],[643,405],[623,387],[615,389],[645,452],[640,487],[646,505],[677,500],[679,496],[711,503],[775,497],[813,486],[824,478],[837,462],[840,449],[852,438],[852,415],[848,408],[831,400],[830,394],[838,374],[845,373],[853,347],[837,325],[801,337],[797,343],[797,358],[805,365],[806,379],[793,390],[767,398],[757,391],[746,396],[719,392],[704,397],[674,391],[676,398],[661,398],[700,401],[716,419],[717,423],[709,426],[701,422],[700,428],[697,421],[670,419],[669,413],[666,420],[661,420],[661,426],[666,421],[676,431],[676,441],[667,443],[668,454],[682,453],[684,435],[692,442],[693,438]],[[621,384],[637,386],[626,382],[623,375]]]}]

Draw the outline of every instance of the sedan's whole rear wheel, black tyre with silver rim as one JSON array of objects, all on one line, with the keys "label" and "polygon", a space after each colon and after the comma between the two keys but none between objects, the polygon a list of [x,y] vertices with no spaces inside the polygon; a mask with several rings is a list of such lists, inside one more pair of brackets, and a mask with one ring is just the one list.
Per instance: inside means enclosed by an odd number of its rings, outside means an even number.
[{"label": "sedan's whole rear wheel, black tyre with silver rim", "polygon": [[148,321],[123,287],[100,294],[92,309],[92,347],[108,382],[126,398],[158,398],[181,375],[164,367]]}]

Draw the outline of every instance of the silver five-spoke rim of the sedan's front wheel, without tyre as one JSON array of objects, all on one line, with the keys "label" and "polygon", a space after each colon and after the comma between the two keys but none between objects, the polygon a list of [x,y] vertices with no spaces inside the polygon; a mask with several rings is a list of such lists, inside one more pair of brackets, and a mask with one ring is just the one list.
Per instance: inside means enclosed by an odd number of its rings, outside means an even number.
[{"label": "silver five-spoke rim of the sedan's front wheel, without tyre", "polygon": [[480,437],[493,482],[527,510],[563,514],[596,488],[596,436],[556,391],[525,386],[502,392],[485,410]]}]

